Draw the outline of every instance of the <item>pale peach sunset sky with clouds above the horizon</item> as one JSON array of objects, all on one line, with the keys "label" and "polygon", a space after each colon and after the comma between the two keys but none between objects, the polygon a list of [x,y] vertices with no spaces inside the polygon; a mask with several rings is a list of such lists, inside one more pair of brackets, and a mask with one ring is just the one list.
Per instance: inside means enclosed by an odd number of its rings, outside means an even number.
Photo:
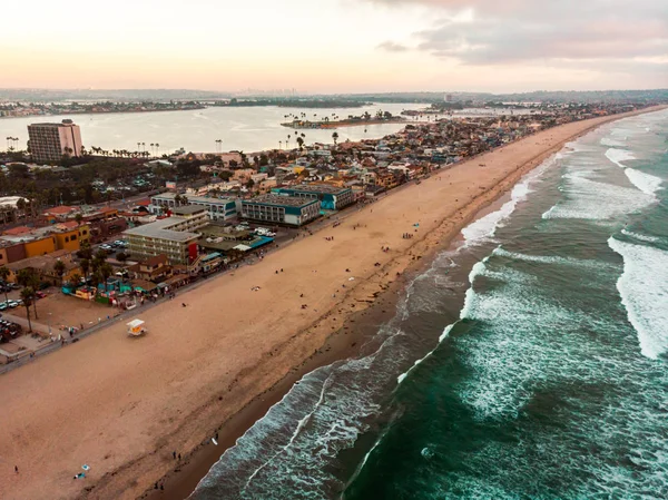
[{"label": "pale peach sunset sky with clouds above the horizon", "polygon": [[0,11],[12,19],[4,88],[668,87],[668,0],[32,0]]}]

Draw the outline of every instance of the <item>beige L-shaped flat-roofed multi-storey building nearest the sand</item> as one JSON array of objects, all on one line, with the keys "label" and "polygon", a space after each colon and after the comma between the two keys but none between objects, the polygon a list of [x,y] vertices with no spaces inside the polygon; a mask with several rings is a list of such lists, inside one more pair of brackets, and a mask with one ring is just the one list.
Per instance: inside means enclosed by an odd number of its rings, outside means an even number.
[{"label": "beige L-shaped flat-roofed multi-storey building nearest the sand", "polygon": [[128,252],[132,258],[149,259],[166,255],[171,265],[187,265],[197,258],[197,229],[208,224],[204,207],[175,207],[173,216],[128,229]]}]

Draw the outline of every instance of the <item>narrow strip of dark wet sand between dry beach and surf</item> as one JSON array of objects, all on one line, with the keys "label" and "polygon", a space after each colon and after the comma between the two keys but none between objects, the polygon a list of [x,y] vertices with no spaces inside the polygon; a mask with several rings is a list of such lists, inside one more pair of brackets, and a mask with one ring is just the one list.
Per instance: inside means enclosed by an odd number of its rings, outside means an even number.
[{"label": "narrow strip of dark wet sand between dry beach and surf", "polygon": [[[661,108],[656,110],[660,109]],[[409,265],[405,268],[405,271],[401,274],[401,276],[399,276],[394,281],[391,281],[387,290],[385,290],[379,295],[381,302],[374,302],[364,312],[351,313],[351,316],[354,318],[353,321],[357,320],[356,316],[363,316],[365,314],[369,314],[370,316],[365,320],[362,320],[363,324],[361,325],[361,327],[360,325],[357,326],[360,329],[358,332],[347,337],[348,341],[353,341],[352,346],[345,343],[342,344],[342,330],[332,333],[317,352],[317,354],[322,354],[322,356],[313,354],[307,360],[302,362],[302,364],[298,367],[296,367],[296,371],[284,375],[283,379],[276,382],[267,391],[257,394],[238,413],[233,414],[229,419],[222,422],[220,425],[213,431],[213,433],[217,432],[219,435],[218,445],[213,445],[213,443],[210,443],[209,440],[204,441],[184,458],[181,465],[168,472],[165,477],[160,479],[158,484],[163,484],[165,490],[147,489],[144,492],[144,494],[138,497],[138,499],[187,499],[194,492],[199,481],[202,481],[205,478],[205,476],[208,474],[212,467],[214,467],[218,462],[223,453],[225,453],[227,449],[233,448],[240,437],[243,437],[258,420],[264,418],[268,410],[274,404],[278,403],[289,392],[295,382],[299,381],[304,375],[321,366],[326,366],[335,361],[358,357],[363,355],[363,350],[355,349],[355,344],[361,343],[361,340],[371,339],[383,323],[390,321],[394,316],[400,294],[404,290],[406,284],[406,274],[411,276],[419,275],[425,267],[429,267],[429,265],[431,264],[431,262],[438,253],[455,248],[461,242],[459,233],[462,228],[473,223],[474,220],[478,220],[484,217],[485,215],[499,209],[501,205],[508,200],[510,192],[512,190],[514,185],[519,180],[521,180],[522,177],[524,177],[531,170],[540,166],[552,155],[563,149],[563,147],[566,147],[566,144],[572,140],[577,140],[578,138],[589,134],[592,130],[596,130],[597,128],[601,127],[602,125],[606,125],[607,122],[616,121],[617,119],[626,118],[628,116],[633,116],[638,114],[641,112],[631,112],[623,117],[591,126],[580,131],[576,136],[564,139],[558,146],[550,148],[549,150],[540,154],[537,158],[533,158],[529,163],[525,163],[522,166],[520,166],[518,170],[510,175],[512,176],[513,180],[509,180],[509,184],[504,186],[502,190],[497,192],[492,199],[490,199],[487,204],[482,205],[478,212],[471,214],[468,218],[463,219],[461,227],[451,228],[450,234],[449,236],[446,236],[446,239],[444,242],[436,243],[436,245],[431,247],[431,249],[429,249],[425,255],[421,255],[421,257],[425,257],[424,259],[420,259],[416,263]],[[472,158],[471,160],[474,159],[475,158]],[[446,169],[438,170],[432,175],[438,176],[443,171],[446,171]],[[502,183],[504,180],[507,179],[503,179]],[[493,190],[493,188],[490,190]],[[484,195],[487,195],[487,193],[480,196]],[[413,245],[411,248],[418,246],[418,244],[422,242],[423,239],[418,239],[415,245]],[[382,302],[383,300],[385,300],[386,302]]]}]

